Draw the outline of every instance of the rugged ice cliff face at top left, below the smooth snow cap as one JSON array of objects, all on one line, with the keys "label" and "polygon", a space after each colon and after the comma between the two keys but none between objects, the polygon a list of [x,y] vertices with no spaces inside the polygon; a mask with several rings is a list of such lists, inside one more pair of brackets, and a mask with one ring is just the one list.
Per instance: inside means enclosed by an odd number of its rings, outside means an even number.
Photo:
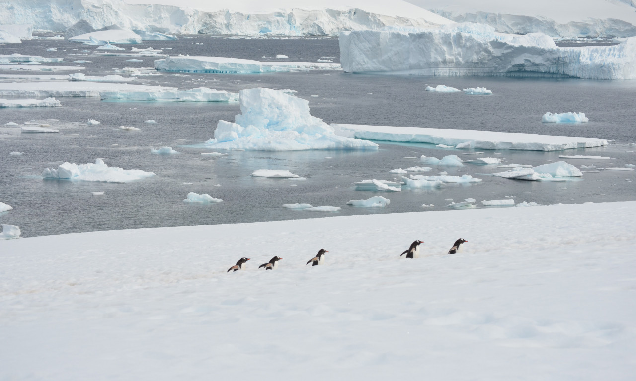
[{"label": "rugged ice cliff face at top left, below the smooth snow cap", "polygon": [[126,29],[163,33],[288,36],[336,36],[343,30],[380,29],[387,25],[438,25],[424,18],[391,17],[356,8],[206,12],[174,5],[127,4],[121,0],[11,0],[0,7],[0,23],[24,23],[33,25],[34,30],[55,32],[71,29],[78,34],[116,24]]}]

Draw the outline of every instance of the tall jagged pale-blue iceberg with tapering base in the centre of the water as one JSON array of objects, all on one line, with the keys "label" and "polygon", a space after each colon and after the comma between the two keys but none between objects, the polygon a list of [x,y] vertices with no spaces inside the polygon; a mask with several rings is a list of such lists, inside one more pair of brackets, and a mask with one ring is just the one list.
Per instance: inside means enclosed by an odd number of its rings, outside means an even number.
[{"label": "tall jagged pale-blue iceberg with tapering base in the centre of the water", "polygon": [[306,150],[377,149],[378,145],[340,137],[309,113],[309,102],[282,91],[253,88],[239,92],[235,123],[219,120],[214,138],[197,145],[212,149]]}]

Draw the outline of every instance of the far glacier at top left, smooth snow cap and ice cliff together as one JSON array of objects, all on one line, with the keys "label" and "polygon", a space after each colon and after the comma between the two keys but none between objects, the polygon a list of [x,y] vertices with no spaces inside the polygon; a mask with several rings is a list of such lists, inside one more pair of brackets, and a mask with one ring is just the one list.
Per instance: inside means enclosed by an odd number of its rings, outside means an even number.
[{"label": "far glacier at top left, smooth snow cap and ice cliff together", "polygon": [[452,23],[423,8],[396,0],[11,0],[0,7],[0,23],[76,35],[119,25],[146,32],[336,36],[343,30],[387,25],[429,27]]}]

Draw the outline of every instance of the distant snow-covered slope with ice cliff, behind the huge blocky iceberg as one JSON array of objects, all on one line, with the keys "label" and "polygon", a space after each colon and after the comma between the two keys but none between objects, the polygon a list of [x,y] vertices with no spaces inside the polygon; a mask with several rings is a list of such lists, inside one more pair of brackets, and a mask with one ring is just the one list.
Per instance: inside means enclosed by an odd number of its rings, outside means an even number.
[{"label": "distant snow-covered slope with ice cliff, behind the huge blocky iceberg", "polygon": [[480,22],[498,32],[552,37],[636,36],[636,1],[407,0],[456,22]]}]

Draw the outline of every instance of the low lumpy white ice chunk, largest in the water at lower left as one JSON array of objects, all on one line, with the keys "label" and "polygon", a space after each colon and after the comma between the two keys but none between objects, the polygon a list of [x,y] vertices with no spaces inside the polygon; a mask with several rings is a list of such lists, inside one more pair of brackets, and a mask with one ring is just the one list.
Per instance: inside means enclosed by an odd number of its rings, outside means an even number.
[{"label": "low lumpy white ice chunk, largest in the water at lower left", "polygon": [[119,167],[109,167],[102,159],[95,160],[95,164],[71,164],[65,162],[60,164],[57,169],[49,169],[43,171],[42,176],[45,178],[62,178],[68,180],[84,180],[97,182],[117,182],[125,183],[142,178],[155,176],[153,172],[142,170],[124,170]]}]

